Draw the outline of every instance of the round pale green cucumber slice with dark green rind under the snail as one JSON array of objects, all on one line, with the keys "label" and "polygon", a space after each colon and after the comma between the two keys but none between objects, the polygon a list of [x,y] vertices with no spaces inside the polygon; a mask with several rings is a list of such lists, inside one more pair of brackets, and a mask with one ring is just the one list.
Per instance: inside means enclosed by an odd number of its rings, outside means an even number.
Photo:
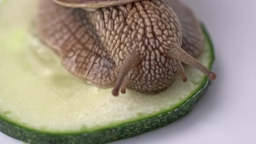
[{"label": "round pale green cucumber slice with dark green rind under the snail", "polygon": [[[55,54],[32,35],[36,0],[0,4],[0,131],[31,144],[96,144],[131,137],[168,124],[191,110],[208,78],[185,67],[188,82],[158,95],[127,90],[113,97],[70,75]],[[209,69],[213,47],[198,58]]]}]

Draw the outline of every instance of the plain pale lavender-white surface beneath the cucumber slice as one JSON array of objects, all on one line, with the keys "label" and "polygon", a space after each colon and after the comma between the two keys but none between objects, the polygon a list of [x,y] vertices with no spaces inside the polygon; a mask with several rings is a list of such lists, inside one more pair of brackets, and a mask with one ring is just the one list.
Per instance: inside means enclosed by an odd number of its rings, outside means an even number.
[{"label": "plain pale lavender-white surface beneath the cucumber slice", "polygon": [[[217,80],[184,118],[112,144],[255,144],[256,1],[183,0],[213,39]],[[0,144],[22,144],[0,133]]]}]

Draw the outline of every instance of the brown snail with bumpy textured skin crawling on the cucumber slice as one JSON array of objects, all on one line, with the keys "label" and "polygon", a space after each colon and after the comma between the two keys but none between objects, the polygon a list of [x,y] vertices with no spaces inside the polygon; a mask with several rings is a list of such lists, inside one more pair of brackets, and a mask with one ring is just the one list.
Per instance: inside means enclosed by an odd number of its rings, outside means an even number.
[{"label": "brown snail with bumpy textured skin crawling on the cucumber slice", "polygon": [[39,0],[40,38],[63,66],[100,88],[165,90],[182,62],[216,78],[195,57],[204,38],[194,13],[179,0]]}]

